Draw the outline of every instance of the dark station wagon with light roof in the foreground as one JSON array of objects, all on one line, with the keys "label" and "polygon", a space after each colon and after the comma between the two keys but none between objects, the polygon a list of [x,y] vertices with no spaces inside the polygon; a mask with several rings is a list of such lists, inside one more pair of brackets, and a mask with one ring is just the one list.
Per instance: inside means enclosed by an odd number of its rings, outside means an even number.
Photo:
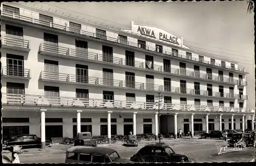
[{"label": "dark station wagon with light roof in the foreground", "polygon": [[67,149],[65,163],[132,163],[121,159],[116,150],[105,147],[75,146]]}]

